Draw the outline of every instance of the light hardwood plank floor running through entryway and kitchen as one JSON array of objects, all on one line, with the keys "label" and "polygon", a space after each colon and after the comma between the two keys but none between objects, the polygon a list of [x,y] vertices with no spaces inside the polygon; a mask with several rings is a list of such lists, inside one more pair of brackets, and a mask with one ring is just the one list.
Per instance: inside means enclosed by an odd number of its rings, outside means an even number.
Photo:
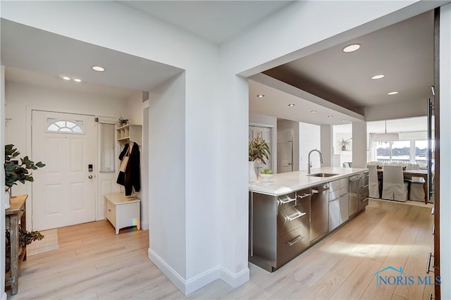
[{"label": "light hardwood plank floor running through entryway and kitchen", "polygon": [[433,286],[380,285],[389,265],[421,275],[433,244],[430,206],[370,200],[366,210],[274,273],[249,264],[250,281],[216,280],[187,297],[147,258],[149,232],[106,221],[58,229],[59,249],[22,265],[8,299],[428,299]]}]

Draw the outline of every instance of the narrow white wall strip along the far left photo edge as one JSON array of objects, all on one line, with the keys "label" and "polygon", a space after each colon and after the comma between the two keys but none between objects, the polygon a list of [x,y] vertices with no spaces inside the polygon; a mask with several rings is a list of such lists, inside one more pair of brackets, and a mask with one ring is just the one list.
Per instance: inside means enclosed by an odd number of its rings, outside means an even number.
[{"label": "narrow white wall strip along the far left photo edge", "polygon": [[[3,123],[5,120],[5,67],[0,65],[0,120]],[[5,130],[1,127],[0,130],[0,149],[5,147]],[[5,161],[5,151],[0,151],[0,161]],[[5,173],[0,172],[0,187],[5,186]],[[5,193],[0,193],[0,241],[5,240]],[[5,291],[5,247],[0,247],[0,299],[6,300]]]}]

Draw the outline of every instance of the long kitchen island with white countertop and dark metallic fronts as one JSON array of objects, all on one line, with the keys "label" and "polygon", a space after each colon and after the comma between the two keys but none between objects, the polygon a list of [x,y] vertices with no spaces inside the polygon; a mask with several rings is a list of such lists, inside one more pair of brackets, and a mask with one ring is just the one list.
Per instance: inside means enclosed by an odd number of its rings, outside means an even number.
[{"label": "long kitchen island with white countertop and dark metallic fronts", "polygon": [[368,169],[323,167],[249,182],[249,261],[273,272],[368,204]]}]

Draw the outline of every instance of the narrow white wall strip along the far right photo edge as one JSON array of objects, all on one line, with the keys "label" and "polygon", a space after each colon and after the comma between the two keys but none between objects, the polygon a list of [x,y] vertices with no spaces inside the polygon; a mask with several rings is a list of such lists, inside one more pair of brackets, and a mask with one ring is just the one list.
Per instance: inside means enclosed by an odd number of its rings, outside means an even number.
[{"label": "narrow white wall strip along the far right photo edge", "polygon": [[440,276],[451,299],[451,4],[440,8]]}]

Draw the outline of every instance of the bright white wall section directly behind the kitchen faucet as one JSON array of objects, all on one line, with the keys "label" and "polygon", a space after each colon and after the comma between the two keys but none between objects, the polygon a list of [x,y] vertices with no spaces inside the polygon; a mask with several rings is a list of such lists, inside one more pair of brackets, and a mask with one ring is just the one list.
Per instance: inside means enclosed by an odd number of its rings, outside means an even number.
[{"label": "bright white wall section directly behind the kitchen faucet", "polygon": [[[311,149],[321,149],[321,127],[299,122],[299,170],[307,170]],[[312,168],[321,167],[319,159],[312,159],[311,165]]]}]

